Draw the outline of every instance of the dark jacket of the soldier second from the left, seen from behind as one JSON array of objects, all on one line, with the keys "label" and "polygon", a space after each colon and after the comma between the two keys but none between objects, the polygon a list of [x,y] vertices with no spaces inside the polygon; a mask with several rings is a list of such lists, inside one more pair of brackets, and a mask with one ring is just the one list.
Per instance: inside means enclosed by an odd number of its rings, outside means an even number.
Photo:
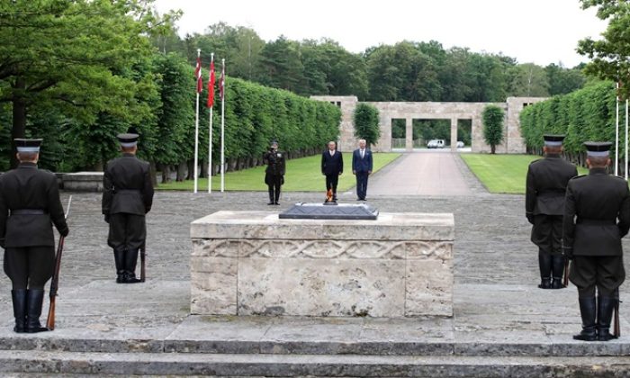
[{"label": "dark jacket of the soldier second from the left, seen from behind", "polygon": [[132,154],[107,162],[103,175],[103,214],[144,215],[153,204],[149,166]]}]

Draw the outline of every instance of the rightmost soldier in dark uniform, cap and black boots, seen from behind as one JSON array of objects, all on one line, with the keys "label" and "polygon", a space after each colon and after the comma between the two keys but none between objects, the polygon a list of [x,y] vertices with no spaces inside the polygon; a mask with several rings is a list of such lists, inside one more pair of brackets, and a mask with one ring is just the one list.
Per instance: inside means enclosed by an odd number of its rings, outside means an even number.
[{"label": "rightmost soldier in dark uniform, cap and black boots, seen from behind", "polygon": [[614,338],[608,329],[618,288],[626,279],[621,238],[630,229],[630,191],[624,179],[606,172],[611,143],[584,145],[590,173],[569,181],[563,220],[563,250],[572,259],[569,279],[578,287],[582,320],[573,338],[608,341]]}]

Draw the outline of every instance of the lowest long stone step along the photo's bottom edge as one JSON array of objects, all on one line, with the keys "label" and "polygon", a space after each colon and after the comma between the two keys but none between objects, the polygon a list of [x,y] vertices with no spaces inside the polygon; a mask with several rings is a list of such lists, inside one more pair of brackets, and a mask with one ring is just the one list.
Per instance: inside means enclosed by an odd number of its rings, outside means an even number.
[{"label": "lowest long stone step along the photo's bottom edge", "polygon": [[630,357],[209,355],[0,351],[0,373],[214,376],[621,377]]}]

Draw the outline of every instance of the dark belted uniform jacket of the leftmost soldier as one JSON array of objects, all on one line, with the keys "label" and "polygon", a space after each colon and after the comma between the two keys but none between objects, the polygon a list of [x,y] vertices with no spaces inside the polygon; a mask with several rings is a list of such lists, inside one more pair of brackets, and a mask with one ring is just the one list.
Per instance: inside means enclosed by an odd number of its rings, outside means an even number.
[{"label": "dark belted uniform jacket of the leftmost soldier", "polygon": [[[15,210],[41,210],[44,214],[14,214]],[[52,223],[67,234],[59,201],[57,177],[34,163],[21,163],[0,176],[0,244],[4,247],[54,246]]]}]

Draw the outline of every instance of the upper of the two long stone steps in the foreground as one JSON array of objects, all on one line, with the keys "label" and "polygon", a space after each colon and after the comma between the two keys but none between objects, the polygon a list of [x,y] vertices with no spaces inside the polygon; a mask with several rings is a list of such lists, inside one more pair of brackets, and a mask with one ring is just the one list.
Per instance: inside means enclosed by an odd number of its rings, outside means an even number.
[{"label": "upper of the two long stone steps in the foreground", "polygon": [[[40,334],[51,335],[52,333]],[[74,353],[191,353],[240,355],[357,355],[357,356],[630,356],[627,340],[606,343],[566,342],[452,342],[452,341],[315,341],[46,338],[0,337],[0,351],[62,351]]]}]

